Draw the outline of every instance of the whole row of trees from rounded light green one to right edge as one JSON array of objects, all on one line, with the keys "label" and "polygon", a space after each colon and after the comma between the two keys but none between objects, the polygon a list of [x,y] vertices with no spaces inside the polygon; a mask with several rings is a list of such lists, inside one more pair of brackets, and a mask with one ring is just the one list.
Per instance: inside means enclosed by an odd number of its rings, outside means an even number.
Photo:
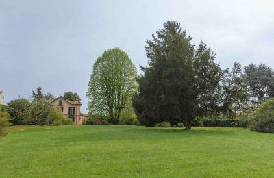
[{"label": "whole row of trees from rounded light green one to right edge", "polygon": [[233,68],[221,69],[210,47],[191,41],[179,23],[166,21],[146,42],[149,62],[140,66],[140,76],[124,51],[105,51],[90,76],[90,113],[110,116],[110,123],[117,124],[121,112],[133,105],[142,125],[183,122],[189,130],[195,118],[234,118],[273,97],[271,68],[242,68],[235,62]]}]

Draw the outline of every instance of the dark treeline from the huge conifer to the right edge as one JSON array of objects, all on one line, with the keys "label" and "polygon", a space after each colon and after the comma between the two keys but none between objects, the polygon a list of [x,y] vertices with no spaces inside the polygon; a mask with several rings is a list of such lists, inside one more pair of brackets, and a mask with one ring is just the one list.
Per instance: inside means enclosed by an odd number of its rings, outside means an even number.
[{"label": "dark treeline from the huge conifer to the right edge", "polygon": [[149,66],[142,67],[134,110],[142,125],[168,121],[191,128],[199,118],[229,118],[252,111],[273,97],[273,70],[264,64],[221,69],[204,42],[192,44],[174,21],[164,23],[145,46]]}]

